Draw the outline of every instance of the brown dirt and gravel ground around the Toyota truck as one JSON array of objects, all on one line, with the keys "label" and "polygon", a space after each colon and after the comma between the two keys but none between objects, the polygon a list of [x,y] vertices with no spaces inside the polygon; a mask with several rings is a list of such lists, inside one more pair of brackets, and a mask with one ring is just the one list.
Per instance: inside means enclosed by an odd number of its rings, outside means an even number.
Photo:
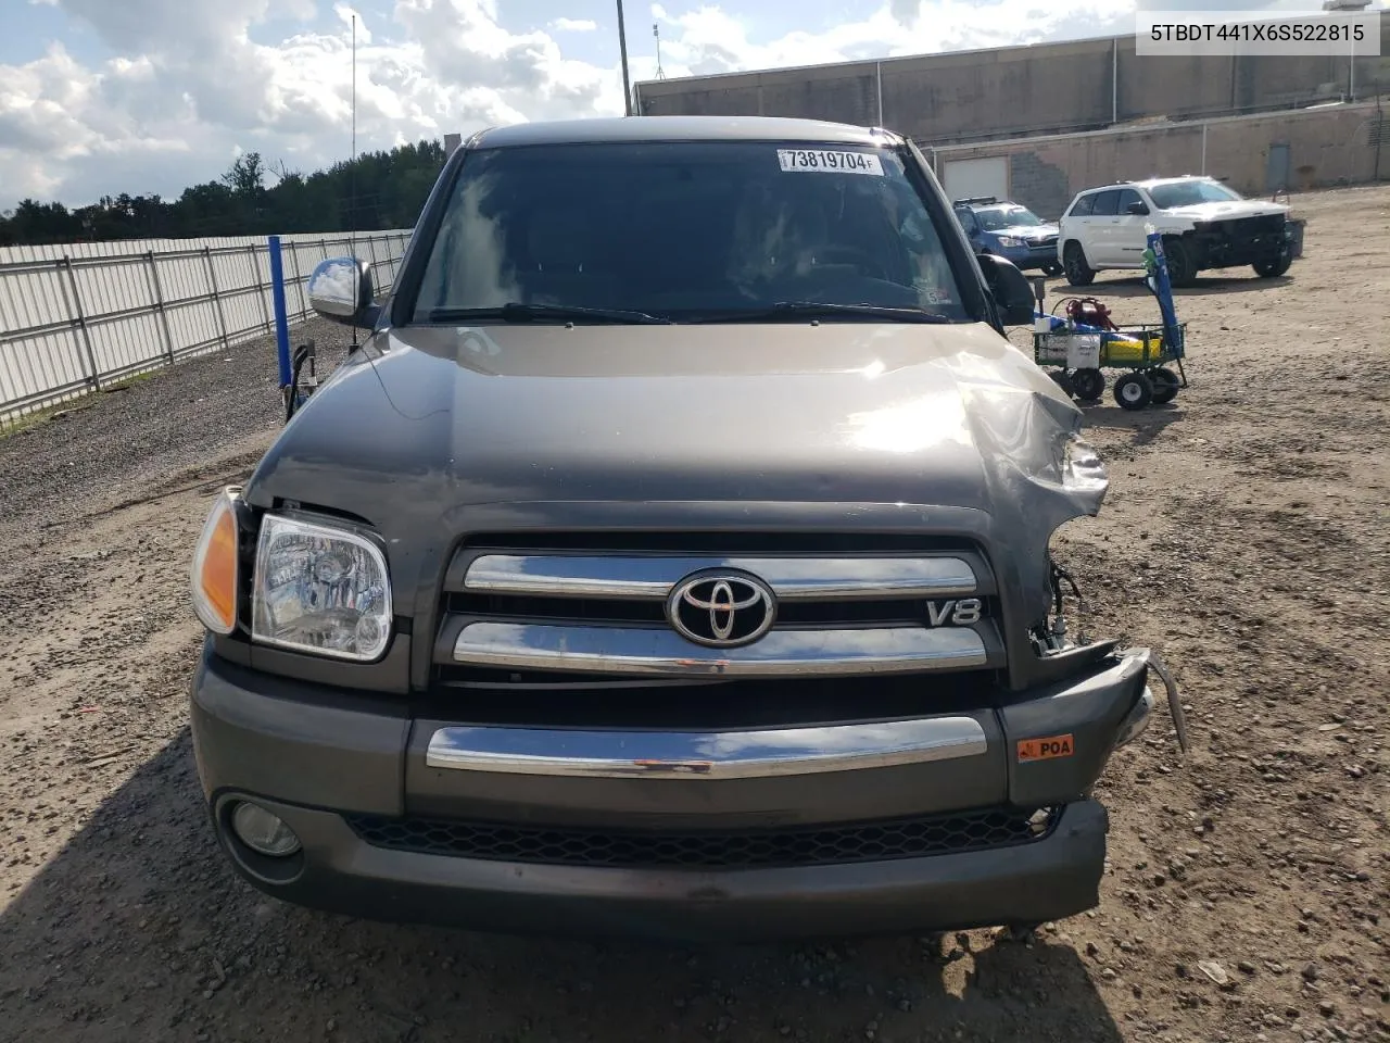
[{"label": "brown dirt and gravel ground around the Toyota truck", "polygon": [[0,1040],[1390,1039],[1390,189],[1295,204],[1289,278],[1180,295],[1176,403],[1088,409],[1113,488],[1072,563],[1093,630],[1175,666],[1194,751],[1161,720],[1116,757],[1102,904],[1027,946],[671,951],[267,901],[200,814],[185,577],[274,435],[268,349],[0,439]]}]

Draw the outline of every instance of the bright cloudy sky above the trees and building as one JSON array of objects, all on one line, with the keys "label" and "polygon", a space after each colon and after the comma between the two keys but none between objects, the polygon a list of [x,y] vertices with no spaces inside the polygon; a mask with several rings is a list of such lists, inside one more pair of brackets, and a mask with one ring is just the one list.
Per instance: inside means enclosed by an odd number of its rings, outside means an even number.
[{"label": "bright cloudy sky above the trees and building", "polygon": [[[626,0],[635,81],[1133,32],[1201,0]],[[1220,0],[1318,10],[1319,0]],[[0,0],[0,210],[623,111],[614,0]]]}]

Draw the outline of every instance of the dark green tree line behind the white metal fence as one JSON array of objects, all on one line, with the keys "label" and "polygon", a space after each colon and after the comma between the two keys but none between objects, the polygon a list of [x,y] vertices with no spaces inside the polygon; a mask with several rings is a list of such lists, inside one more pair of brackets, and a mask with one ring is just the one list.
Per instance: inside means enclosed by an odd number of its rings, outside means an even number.
[{"label": "dark green tree line behind the white metal fence", "polygon": [[122,192],[68,210],[24,199],[0,211],[0,246],[410,228],[443,160],[438,140],[421,140],[304,177],[249,152],[220,181],[186,188],[174,200]]}]

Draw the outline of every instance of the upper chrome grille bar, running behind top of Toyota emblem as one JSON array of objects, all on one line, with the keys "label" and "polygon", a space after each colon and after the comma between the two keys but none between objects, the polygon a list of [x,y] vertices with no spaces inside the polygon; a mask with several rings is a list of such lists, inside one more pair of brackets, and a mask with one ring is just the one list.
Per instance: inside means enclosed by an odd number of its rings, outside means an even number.
[{"label": "upper chrome grille bar, running behind top of Toyota emblem", "polygon": [[960,558],[727,558],[510,555],[475,558],[466,591],[560,598],[657,599],[702,569],[739,569],[783,599],[923,598],[976,594],[980,580]]}]

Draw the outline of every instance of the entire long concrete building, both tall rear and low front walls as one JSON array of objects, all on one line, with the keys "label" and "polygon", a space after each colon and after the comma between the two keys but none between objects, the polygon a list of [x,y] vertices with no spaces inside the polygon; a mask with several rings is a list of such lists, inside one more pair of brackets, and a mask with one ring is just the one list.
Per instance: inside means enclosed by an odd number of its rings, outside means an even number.
[{"label": "entire long concrete building, both tall rear and low front walls", "polygon": [[[1332,0],[1362,6],[1362,0]],[[1382,57],[1136,54],[1134,36],[637,85],[641,115],[792,115],[888,127],[952,197],[1055,217],[1083,188],[1212,174],[1248,195],[1390,178]]]}]

